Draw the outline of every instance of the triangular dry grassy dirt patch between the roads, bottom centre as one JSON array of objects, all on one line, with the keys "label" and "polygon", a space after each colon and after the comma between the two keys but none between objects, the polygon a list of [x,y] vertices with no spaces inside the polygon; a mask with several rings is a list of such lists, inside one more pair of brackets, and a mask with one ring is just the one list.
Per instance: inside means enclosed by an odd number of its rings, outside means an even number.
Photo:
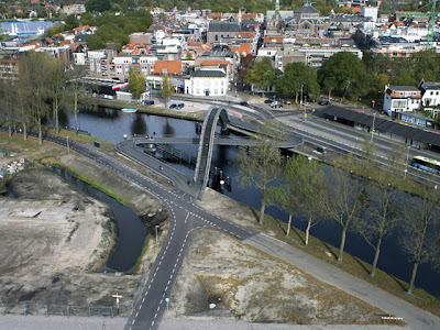
[{"label": "triangular dry grassy dirt patch between the roads, bottom centre", "polygon": [[372,324],[381,315],[380,309],[213,230],[193,237],[170,304],[169,317],[250,322]]}]

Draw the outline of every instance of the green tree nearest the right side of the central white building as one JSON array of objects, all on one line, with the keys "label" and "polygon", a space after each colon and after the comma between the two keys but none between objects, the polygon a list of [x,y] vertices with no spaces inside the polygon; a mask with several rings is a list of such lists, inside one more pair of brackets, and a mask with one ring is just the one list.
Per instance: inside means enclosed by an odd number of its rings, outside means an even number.
[{"label": "green tree nearest the right side of the central white building", "polygon": [[262,90],[264,97],[264,92],[275,84],[277,76],[279,76],[279,72],[274,69],[271,58],[263,57],[248,69],[244,82],[255,85],[257,89]]}]

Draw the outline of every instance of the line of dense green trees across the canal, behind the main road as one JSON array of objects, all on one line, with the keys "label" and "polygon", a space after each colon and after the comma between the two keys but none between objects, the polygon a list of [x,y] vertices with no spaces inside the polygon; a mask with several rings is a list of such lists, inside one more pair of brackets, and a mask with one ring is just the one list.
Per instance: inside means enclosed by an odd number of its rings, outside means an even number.
[{"label": "line of dense green trees across the canal, behind the main road", "polygon": [[318,72],[304,63],[290,63],[282,73],[268,57],[244,63],[245,84],[254,84],[260,90],[275,86],[277,94],[294,95],[296,99],[300,90],[308,99],[319,96],[320,90],[352,99],[375,99],[383,96],[386,85],[418,86],[422,79],[440,81],[440,54],[435,51],[414,53],[405,59],[382,54],[372,57],[366,52],[361,59],[352,53],[340,52]]}]

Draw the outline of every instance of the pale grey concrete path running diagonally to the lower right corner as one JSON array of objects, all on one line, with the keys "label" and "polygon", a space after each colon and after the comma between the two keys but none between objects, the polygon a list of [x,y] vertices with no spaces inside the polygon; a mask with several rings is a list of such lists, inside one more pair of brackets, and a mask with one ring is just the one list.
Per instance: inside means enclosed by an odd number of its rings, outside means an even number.
[{"label": "pale grey concrete path running diagonally to the lower right corner", "polygon": [[[307,254],[299,249],[295,249],[294,246],[265,234],[252,237],[245,240],[244,243],[266,252],[272,256],[284,260],[315,278],[358,297],[372,306],[381,308],[387,314],[404,318],[404,322],[406,322],[411,329],[440,329],[439,317],[424,311],[363,279],[344,273],[338,267]],[[358,329],[359,327],[356,326],[355,328]]]}]

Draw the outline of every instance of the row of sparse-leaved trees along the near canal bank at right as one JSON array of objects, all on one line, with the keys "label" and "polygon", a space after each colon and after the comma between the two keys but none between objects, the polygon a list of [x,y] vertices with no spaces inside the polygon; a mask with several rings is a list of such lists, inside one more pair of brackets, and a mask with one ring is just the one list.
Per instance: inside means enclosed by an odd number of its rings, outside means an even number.
[{"label": "row of sparse-leaved trees along the near canal bank at right", "polygon": [[324,175],[317,161],[304,156],[283,162],[276,146],[282,132],[266,123],[260,131],[264,138],[258,138],[256,147],[239,156],[242,187],[251,185],[262,191],[260,223],[266,205],[288,215],[286,235],[294,216],[301,216],[307,219],[307,245],[314,226],[336,221],[341,228],[339,262],[343,258],[348,230],[355,230],[375,251],[372,277],[383,239],[398,232],[402,251],[414,265],[408,293],[420,264],[440,266],[440,191],[404,177],[405,146],[389,154],[386,167],[377,167],[375,146],[366,140],[362,158],[352,154],[341,156],[333,163],[333,170]]}]

